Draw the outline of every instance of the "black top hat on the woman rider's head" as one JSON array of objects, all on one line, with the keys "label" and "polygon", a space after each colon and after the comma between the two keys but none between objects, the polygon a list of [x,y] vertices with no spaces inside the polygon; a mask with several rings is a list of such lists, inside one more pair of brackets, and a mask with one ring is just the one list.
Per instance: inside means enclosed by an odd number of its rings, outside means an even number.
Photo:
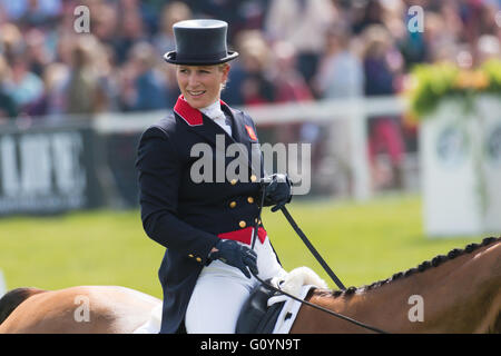
[{"label": "black top hat on the woman rider's head", "polygon": [[164,55],[169,63],[212,66],[238,57],[228,51],[226,32],[228,23],[220,20],[186,20],[174,23],[176,50]]}]

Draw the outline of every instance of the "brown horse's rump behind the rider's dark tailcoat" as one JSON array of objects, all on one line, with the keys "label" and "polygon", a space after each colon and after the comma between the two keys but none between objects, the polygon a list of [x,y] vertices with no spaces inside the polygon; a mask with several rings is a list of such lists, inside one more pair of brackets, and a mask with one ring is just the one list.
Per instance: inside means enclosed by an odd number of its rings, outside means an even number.
[{"label": "brown horse's rump behind the rider's dark tailcoat", "polygon": [[120,286],[17,288],[0,299],[0,334],[131,334],[161,300]]}]

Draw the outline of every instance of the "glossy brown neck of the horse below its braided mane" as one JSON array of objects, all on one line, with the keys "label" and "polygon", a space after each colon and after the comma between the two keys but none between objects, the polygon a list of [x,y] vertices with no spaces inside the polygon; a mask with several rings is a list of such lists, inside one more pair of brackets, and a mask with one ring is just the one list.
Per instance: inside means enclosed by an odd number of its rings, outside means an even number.
[{"label": "glossy brown neck of the horse below its braided mane", "polygon": [[[487,319],[497,317],[485,316],[499,313],[500,265],[501,244],[497,243],[381,286],[358,288],[351,296],[318,294],[311,301],[387,332],[482,332],[492,322]],[[343,332],[346,326],[325,315],[318,317],[324,318],[318,326],[327,333],[340,332],[340,327]],[[353,326],[345,332],[363,329]]]}]

